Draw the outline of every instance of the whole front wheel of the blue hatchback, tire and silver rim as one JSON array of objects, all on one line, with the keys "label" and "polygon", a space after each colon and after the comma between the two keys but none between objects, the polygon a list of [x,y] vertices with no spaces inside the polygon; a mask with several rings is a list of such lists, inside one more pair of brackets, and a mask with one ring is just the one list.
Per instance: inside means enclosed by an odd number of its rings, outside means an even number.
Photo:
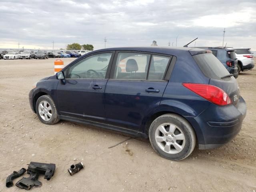
[{"label": "whole front wheel of the blue hatchback, tire and silver rim", "polygon": [[54,101],[49,95],[43,95],[36,101],[36,114],[41,122],[52,125],[60,121]]}]

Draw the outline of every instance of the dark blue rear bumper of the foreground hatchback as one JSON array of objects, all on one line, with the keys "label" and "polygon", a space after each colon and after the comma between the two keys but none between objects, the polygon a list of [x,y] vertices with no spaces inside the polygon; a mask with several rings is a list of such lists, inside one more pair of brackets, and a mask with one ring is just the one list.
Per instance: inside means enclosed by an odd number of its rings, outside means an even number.
[{"label": "dark blue rear bumper of the foreground hatchback", "polygon": [[240,132],[245,116],[246,103],[241,97],[236,106],[210,104],[200,115],[188,120],[193,127],[200,127],[201,133],[196,133],[199,149],[211,149],[232,140]]}]

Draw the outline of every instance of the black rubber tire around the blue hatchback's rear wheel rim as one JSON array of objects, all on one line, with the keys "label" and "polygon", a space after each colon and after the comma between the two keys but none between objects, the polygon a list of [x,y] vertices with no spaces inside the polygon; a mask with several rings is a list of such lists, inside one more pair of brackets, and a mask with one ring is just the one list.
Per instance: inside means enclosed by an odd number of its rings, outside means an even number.
[{"label": "black rubber tire around the blue hatchback's rear wheel rim", "polygon": [[[184,148],[176,154],[170,154],[165,152],[158,146],[156,142],[156,138],[155,138],[156,130],[158,126],[164,123],[171,123],[171,124],[174,124],[175,126],[178,126],[178,128],[180,128],[180,130],[182,130],[184,134],[184,137],[185,137]],[[170,159],[174,161],[179,161],[187,158],[193,152],[196,146],[196,134],[194,129],[186,119],[176,114],[164,114],[156,118],[150,126],[149,139],[150,139],[152,148],[156,151],[156,153],[158,153],[160,156],[166,159]]]}]

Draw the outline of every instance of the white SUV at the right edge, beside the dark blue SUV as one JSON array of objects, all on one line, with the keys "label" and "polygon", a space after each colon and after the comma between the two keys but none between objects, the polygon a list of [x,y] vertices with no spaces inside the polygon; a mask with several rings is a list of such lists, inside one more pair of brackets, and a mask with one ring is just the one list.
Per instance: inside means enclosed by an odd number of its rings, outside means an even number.
[{"label": "white SUV at the right edge, beside the dark blue SUV", "polygon": [[238,72],[252,70],[254,68],[253,53],[250,48],[232,48],[235,49],[236,58],[238,60]]}]

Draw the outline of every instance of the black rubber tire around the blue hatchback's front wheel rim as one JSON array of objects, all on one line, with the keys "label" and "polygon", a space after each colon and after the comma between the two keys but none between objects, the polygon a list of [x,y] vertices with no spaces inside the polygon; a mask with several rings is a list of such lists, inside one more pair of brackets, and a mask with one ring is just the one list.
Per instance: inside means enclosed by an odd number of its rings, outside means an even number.
[{"label": "black rubber tire around the blue hatchback's front wheel rim", "polygon": [[[48,121],[43,120],[39,114],[38,106],[41,101],[48,102],[48,104],[50,104],[50,106],[52,108],[52,117]],[[38,98],[38,100],[36,101],[36,114],[37,114],[38,118],[40,119],[40,121],[47,125],[56,124],[60,121],[60,119],[58,118],[58,113],[57,113],[57,109],[54,104],[54,101],[52,100],[52,98],[49,95],[43,95]]]}]

